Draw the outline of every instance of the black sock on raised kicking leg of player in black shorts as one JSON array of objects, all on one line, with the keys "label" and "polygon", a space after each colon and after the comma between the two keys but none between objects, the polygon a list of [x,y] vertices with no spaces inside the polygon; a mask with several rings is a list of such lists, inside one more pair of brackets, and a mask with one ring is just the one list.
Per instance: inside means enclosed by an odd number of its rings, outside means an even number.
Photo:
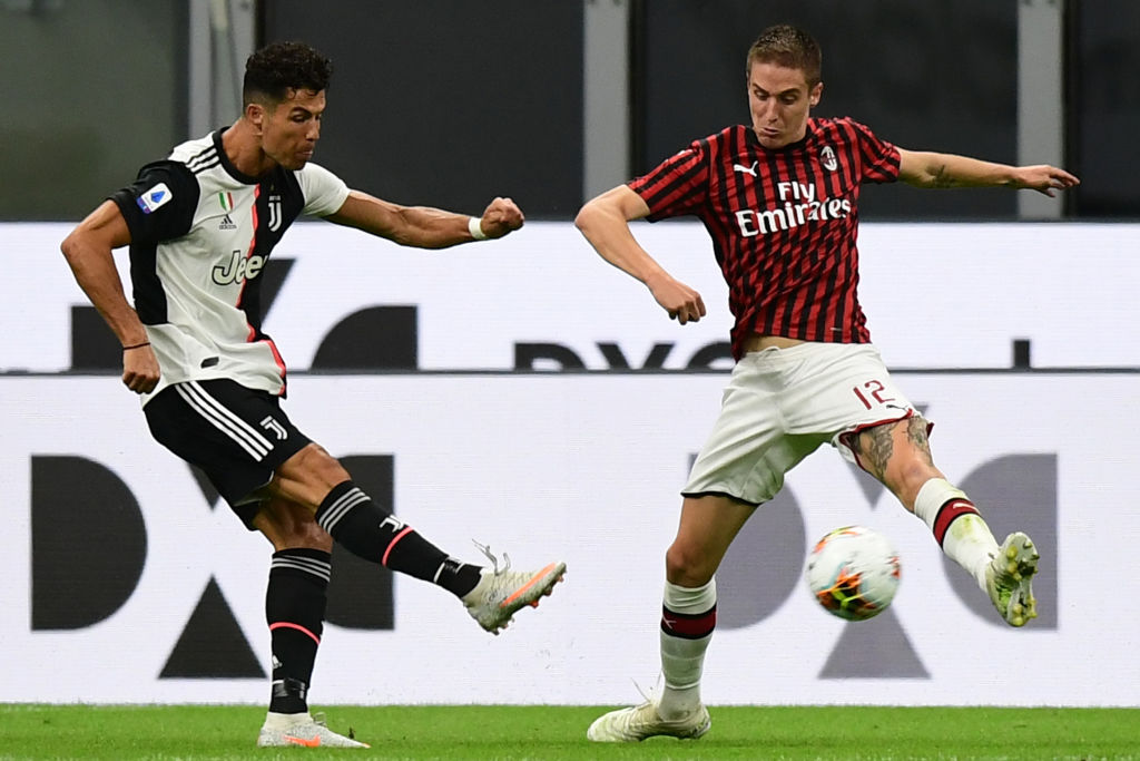
[{"label": "black sock on raised kicking leg of player in black shorts", "polygon": [[479,583],[479,566],[449,557],[352,481],[333,487],[317,509],[317,523],[344,549],[463,597]]}]

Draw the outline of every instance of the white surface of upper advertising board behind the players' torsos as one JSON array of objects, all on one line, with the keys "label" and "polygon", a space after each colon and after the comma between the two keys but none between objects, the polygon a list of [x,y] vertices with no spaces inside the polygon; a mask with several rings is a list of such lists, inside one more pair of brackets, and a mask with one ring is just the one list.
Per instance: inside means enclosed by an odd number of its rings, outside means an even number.
[{"label": "white surface of upper advertising board behind the players' torsos", "polygon": [[[635,224],[637,237],[703,296],[709,316],[670,322],[637,282],[606,265],[570,222],[529,222],[500,241],[402,249],[327,222],[296,225],[274,252],[291,260],[264,329],[307,370],[348,315],[416,307],[421,370],[511,370],[519,343],[557,343],[591,370],[632,367],[669,345],[666,369],[727,340],[727,291],[697,222]],[[59,254],[71,225],[0,224],[9,276],[0,372],[72,366],[72,306],[87,300]],[[1140,225],[864,224],[861,300],[891,367],[1009,367],[1028,340],[1037,367],[1140,366]],[[129,281],[125,251],[116,258]],[[129,282],[128,282],[129,291]],[[612,354],[612,351],[611,351]],[[554,362],[537,363],[557,370]]]}]

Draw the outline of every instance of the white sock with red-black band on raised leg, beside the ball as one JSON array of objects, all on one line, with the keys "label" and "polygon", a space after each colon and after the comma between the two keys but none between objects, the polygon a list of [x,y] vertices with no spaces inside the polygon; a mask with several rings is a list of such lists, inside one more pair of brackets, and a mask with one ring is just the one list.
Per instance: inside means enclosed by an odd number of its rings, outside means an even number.
[{"label": "white sock with red-black band on raised leg, beside the ball", "polygon": [[944,478],[931,478],[914,499],[914,515],[930,527],[943,552],[987,591],[986,566],[997,554],[997,542],[966,493]]}]

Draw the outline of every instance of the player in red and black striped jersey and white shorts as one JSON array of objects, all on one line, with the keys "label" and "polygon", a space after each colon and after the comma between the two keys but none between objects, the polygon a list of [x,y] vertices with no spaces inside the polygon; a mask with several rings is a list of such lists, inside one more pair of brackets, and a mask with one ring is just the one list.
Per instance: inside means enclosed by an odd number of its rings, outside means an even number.
[{"label": "player in red and black striped jersey and white shorts", "polygon": [[752,511],[828,443],[882,481],[933,531],[1013,626],[1034,617],[1037,551],[1024,533],[999,544],[978,509],[935,467],[930,424],[870,343],[856,297],[860,185],[1032,188],[1077,184],[1048,165],[1008,167],[905,151],[850,119],[811,115],[823,91],[819,44],[765,30],[746,64],[751,124],[695,140],[648,175],[589,201],[576,224],[614,267],[643,282],[682,325],[706,315],[700,293],[638,245],[628,222],[697,216],[712,238],[735,317],[736,364],[720,414],[682,489],[666,552],[660,629],[663,687],[597,719],[593,740],[708,731],[705,651],[716,625],[715,573]]}]

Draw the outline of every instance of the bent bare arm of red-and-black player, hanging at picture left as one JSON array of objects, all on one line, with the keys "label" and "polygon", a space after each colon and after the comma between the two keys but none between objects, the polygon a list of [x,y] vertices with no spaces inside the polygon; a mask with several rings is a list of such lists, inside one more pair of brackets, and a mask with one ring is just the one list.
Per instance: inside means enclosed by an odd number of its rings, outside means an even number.
[{"label": "bent bare arm of red-and-black player, hanging at picture left", "polygon": [[575,225],[603,259],[644,283],[670,319],[697,322],[706,315],[701,294],[667,273],[629,229],[630,221],[648,216],[645,200],[619,185],[586,203]]}]

